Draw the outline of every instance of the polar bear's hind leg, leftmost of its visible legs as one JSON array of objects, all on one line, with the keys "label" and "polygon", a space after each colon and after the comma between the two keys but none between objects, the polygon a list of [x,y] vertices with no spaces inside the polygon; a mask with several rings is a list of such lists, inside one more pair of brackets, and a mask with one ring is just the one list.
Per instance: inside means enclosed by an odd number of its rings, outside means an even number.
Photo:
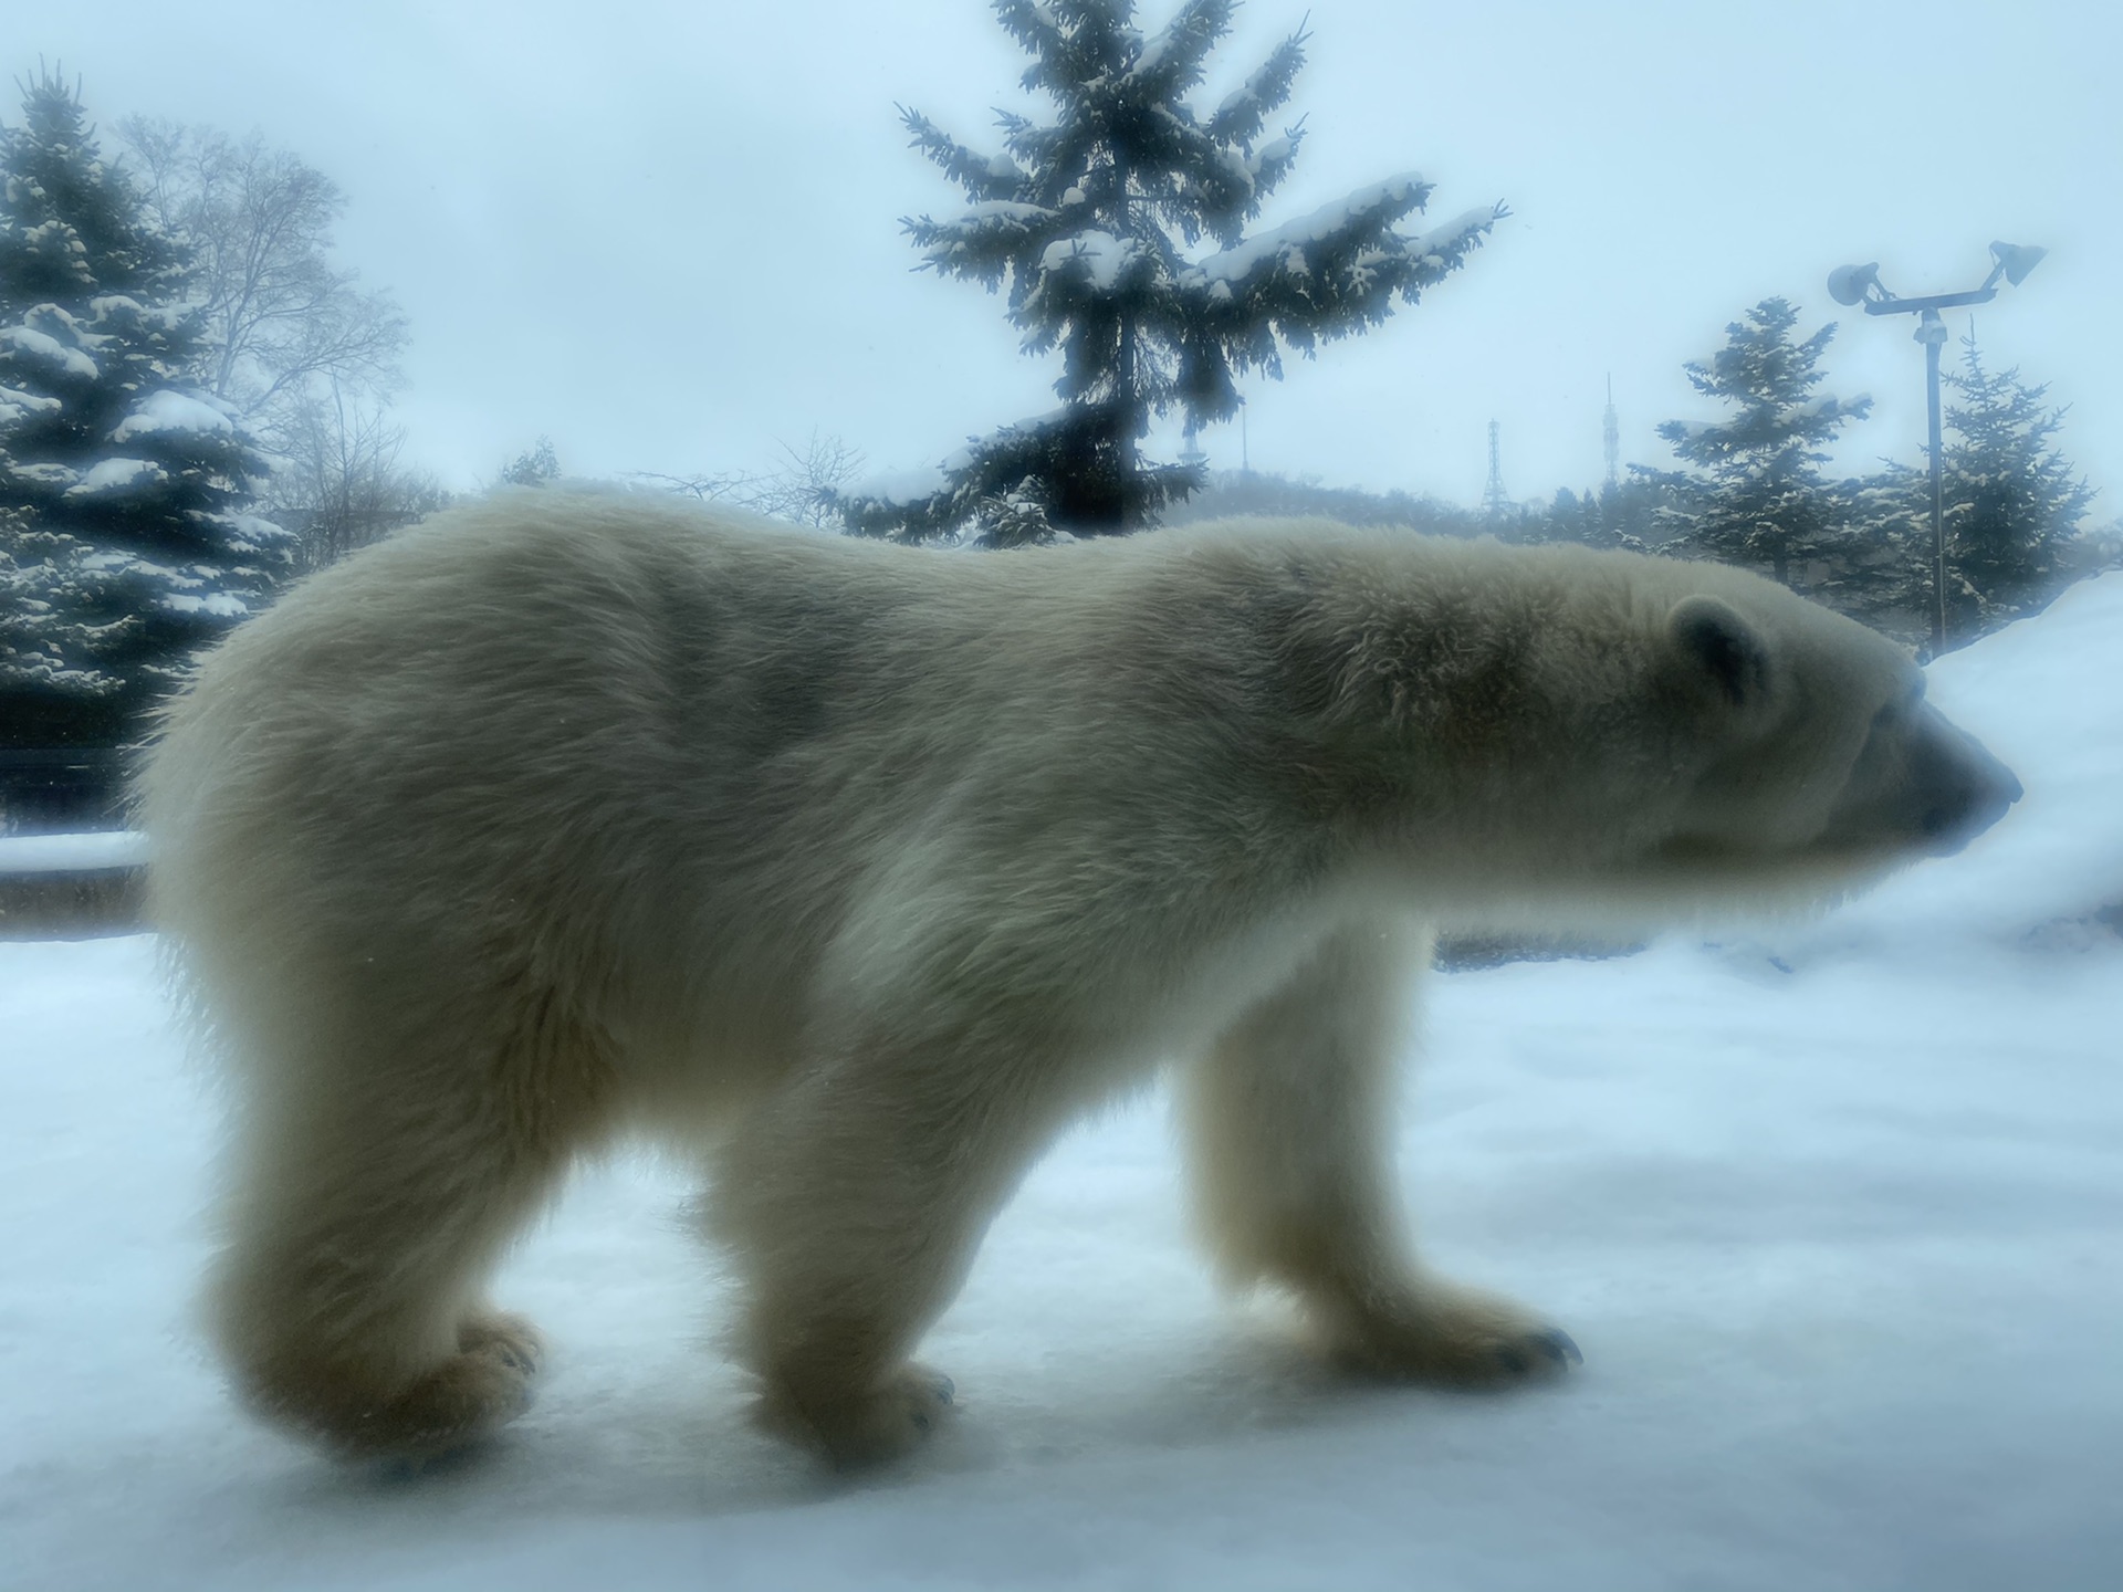
[{"label": "polar bear's hind leg, leftmost of its visible legs", "polygon": [[541,1038],[490,1066],[352,1053],[251,1102],[210,1305],[259,1414],[344,1456],[425,1458],[531,1403],[537,1331],[482,1288],[603,1104],[601,1068]]}]

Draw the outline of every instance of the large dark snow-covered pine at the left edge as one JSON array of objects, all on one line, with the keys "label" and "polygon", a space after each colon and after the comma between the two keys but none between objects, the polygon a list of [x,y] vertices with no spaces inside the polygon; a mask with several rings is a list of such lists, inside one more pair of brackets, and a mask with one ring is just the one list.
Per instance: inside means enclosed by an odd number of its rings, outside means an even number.
[{"label": "large dark snow-covered pine at the left edge", "polygon": [[187,388],[189,257],[40,72],[0,125],[0,743],[115,745],[265,603],[291,539],[263,458]]}]

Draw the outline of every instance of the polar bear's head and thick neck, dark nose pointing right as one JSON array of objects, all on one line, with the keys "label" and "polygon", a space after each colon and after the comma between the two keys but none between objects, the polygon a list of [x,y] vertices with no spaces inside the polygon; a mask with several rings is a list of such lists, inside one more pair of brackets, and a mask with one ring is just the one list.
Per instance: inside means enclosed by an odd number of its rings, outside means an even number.
[{"label": "polar bear's head and thick neck, dark nose pointing right", "polygon": [[1359,533],[1291,567],[1293,762],[1361,866],[1446,917],[1819,902],[2021,794],[1906,650],[1747,571]]}]

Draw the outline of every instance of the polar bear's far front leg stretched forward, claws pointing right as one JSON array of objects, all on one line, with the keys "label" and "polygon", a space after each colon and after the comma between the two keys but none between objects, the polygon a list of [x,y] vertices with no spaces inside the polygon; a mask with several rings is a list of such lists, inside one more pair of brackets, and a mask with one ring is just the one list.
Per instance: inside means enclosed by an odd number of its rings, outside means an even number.
[{"label": "polar bear's far front leg stretched forward, claws pointing right", "polygon": [[1357,923],[1187,1072],[1199,1223],[1225,1271],[1291,1288],[1329,1352],[1380,1375],[1482,1386],[1554,1373],[1577,1346],[1429,1276],[1393,1189],[1397,1059],[1429,934]]}]

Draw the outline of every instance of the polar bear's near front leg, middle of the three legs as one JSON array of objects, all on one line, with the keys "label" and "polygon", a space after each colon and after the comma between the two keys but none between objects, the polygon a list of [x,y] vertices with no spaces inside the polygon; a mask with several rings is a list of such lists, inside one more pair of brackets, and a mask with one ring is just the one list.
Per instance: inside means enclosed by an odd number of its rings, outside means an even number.
[{"label": "polar bear's near front leg, middle of the three legs", "polygon": [[836,1465],[936,1429],[951,1380],[907,1354],[1057,1127],[1064,1080],[1057,1057],[977,1036],[879,1042],[807,1068],[745,1121],[713,1231],[749,1293],[741,1348],[775,1424]]}]

